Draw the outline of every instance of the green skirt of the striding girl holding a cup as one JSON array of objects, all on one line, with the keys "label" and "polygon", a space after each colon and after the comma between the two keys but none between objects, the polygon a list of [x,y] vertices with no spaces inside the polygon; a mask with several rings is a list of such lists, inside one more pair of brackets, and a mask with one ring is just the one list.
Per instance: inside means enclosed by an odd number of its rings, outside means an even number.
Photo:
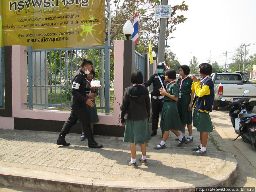
[{"label": "green skirt of the striding girl holding a cup", "polygon": [[170,131],[170,129],[182,131],[182,123],[179,118],[176,102],[164,102],[160,127],[162,131]]}]

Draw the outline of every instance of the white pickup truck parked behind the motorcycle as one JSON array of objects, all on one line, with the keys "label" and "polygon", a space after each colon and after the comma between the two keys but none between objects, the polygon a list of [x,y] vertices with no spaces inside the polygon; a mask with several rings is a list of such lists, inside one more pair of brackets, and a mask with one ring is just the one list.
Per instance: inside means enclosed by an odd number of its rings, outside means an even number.
[{"label": "white pickup truck parked behind the motorcycle", "polygon": [[225,98],[225,102],[232,102],[234,98],[242,98],[243,91],[249,89],[249,93],[243,98],[250,98],[245,104],[246,110],[251,111],[256,104],[256,83],[249,83],[246,76],[242,72],[217,72],[211,76],[214,84],[214,102],[213,110],[217,110],[222,103],[221,98]]}]

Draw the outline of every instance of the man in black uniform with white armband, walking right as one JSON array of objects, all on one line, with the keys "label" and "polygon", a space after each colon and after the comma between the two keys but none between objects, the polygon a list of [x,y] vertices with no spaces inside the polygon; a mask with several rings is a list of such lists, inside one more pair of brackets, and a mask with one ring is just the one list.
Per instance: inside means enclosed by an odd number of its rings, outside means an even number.
[{"label": "man in black uniform with white armband, walking right", "polygon": [[68,146],[70,143],[65,141],[66,134],[69,133],[71,127],[77,123],[77,120],[82,123],[82,129],[85,137],[88,139],[88,147],[102,148],[102,144],[98,144],[93,139],[93,133],[90,124],[90,116],[86,110],[85,105],[91,107],[94,106],[92,99],[86,98],[86,74],[89,74],[92,70],[92,61],[89,59],[83,59],[81,68],[73,75],[71,79],[71,112],[69,119],[64,123],[59,138],[57,140],[58,145]]}]

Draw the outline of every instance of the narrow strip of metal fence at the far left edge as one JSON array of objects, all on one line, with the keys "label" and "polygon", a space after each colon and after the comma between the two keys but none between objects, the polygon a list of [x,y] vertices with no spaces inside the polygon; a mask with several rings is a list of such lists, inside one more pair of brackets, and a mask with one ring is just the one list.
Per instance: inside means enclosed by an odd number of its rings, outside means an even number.
[{"label": "narrow strip of metal fence at the far left edge", "polygon": [[0,108],[5,108],[5,57],[4,47],[0,49]]}]

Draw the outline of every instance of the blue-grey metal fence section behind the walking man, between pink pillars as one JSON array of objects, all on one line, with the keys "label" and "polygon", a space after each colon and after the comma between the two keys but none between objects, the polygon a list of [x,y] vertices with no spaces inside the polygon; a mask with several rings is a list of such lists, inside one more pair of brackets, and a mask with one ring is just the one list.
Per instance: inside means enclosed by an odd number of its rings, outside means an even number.
[{"label": "blue-grey metal fence section behind the walking man, between pink pillars", "polygon": [[101,81],[99,90],[102,113],[110,110],[110,49],[113,46],[32,49],[28,47],[28,105],[29,109],[70,107],[71,78],[83,58],[93,62],[95,79]]}]

